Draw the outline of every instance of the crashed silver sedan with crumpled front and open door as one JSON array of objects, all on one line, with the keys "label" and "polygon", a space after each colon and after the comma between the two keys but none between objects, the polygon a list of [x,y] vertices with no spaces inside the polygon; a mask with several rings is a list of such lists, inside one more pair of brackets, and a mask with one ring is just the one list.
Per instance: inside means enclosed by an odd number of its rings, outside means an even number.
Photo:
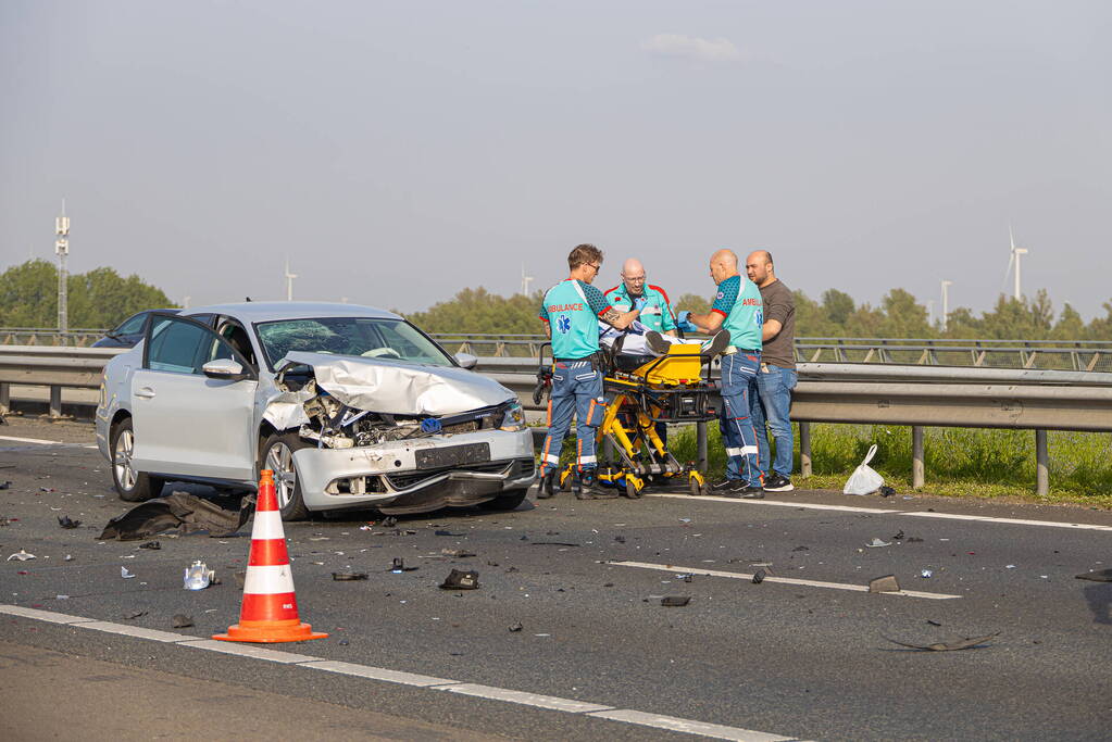
[{"label": "crashed silver sedan with crumpled front and open door", "polygon": [[513,509],[535,477],[517,397],[390,312],[305,302],[152,313],[105,368],[97,443],[120,498],[249,489],[282,518]]}]

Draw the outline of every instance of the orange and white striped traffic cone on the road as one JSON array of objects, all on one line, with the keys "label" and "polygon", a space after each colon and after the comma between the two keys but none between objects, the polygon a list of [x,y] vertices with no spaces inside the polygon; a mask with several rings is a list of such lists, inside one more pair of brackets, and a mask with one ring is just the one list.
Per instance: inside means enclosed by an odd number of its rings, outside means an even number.
[{"label": "orange and white striped traffic cone on the road", "polygon": [[244,581],[244,603],[239,623],[212,639],[227,642],[300,642],[324,639],[297,615],[294,575],[286,553],[286,535],[275,495],[274,472],[265,469],[259,479],[259,502],[251,527],[251,555]]}]

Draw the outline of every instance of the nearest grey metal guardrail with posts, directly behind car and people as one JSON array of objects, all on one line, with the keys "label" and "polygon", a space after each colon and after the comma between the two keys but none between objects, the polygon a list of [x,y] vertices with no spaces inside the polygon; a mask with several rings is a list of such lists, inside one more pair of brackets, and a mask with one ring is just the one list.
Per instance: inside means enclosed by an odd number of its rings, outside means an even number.
[{"label": "nearest grey metal guardrail with posts, directly behind car and people", "polygon": [[[0,347],[0,411],[13,385],[50,388],[50,414],[61,414],[61,390],[96,389],[119,349]],[[536,360],[480,358],[476,370],[533,403]],[[811,468],[811,423],[912,428],[913,484],[923,485],[923,428],[1004,428],[1035,431],[1037,491],[1049,489],[1046,431],[1112,431],[1112,373],[1033,369],[863,363],[801,363],[792,394],[800,423],[803,474]],[[706,429],[699,427],[705,461]]]}]

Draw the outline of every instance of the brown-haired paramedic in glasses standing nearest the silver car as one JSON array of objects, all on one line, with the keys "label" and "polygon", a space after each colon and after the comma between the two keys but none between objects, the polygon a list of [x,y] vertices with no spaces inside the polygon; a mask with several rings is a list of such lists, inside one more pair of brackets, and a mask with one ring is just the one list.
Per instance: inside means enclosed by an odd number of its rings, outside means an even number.
[{"label": "brown-haired paramedic in glasses standing nearest the silver car", "polygon": [[545,292],[540,319],[553,350],[553,387],[548,400],[548,434],[540,450],[540,491],[556,493],[555,478],[564,437],[576,418],[576,497],[595,495],[595,434],[603,422],[603,365],[598,348],[598,321],[625,330],[641,311],[619,311],[592,285],[603,265],[603,251],[579,244],[567,257],[568,277]]}]

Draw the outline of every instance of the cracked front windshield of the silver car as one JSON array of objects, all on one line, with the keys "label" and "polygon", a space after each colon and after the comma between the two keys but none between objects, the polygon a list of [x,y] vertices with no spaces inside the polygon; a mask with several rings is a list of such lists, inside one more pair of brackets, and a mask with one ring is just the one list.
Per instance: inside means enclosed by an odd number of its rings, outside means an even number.
[{"label": "cracked front windshield of the silver car", "polygon": [[271,367],[291,351],[453,365],[433,341],[400,320],[354,317],[284,320],[259,324],[258,332]]}]

